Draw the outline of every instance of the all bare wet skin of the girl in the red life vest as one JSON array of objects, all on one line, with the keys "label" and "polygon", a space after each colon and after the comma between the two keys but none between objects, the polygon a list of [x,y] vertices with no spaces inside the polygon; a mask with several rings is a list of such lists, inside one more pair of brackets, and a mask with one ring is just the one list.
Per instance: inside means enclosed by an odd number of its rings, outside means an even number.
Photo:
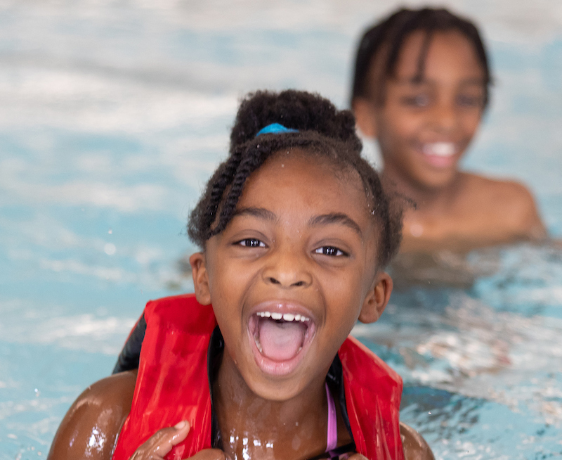
[{"label": "all bare wet skin of the girl in the red life vest", "polygon": [[[197,300],[212,302],[226,343],[213,385],[225,452],[209,449],[194,459],[295,460],[324,452],[329,365],[355,321],[379,318],[392,288],[376,268],[378,231],[364,193],[356,173],[335,174],[298,150],[278,153],[248,179],[227,228],[190,258]],[[263,305],[298,310],[313,323],[301,356],[285,359],[286,366],[264,361],[249,331]],[[110,459],[135,380],[122,373],[86,390],[61,423],[49,458]],[[338,445],[345,445],[351,437],[339,407],[337,413]],[[107,420],[100,428],[101,414]],[[103,445],[89,448],[100,429]],[[160,458],[189,429],[160,430],[133,459]],[[414,430],[400,430],[407,459],[433,458]]]}]

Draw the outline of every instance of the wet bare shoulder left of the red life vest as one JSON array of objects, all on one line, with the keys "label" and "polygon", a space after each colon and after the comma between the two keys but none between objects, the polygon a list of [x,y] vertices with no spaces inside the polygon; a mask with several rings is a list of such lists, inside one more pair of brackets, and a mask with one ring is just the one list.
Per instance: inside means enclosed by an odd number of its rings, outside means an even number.
[{"label": "wet bare shoulder left of the red life vest", "polygon": [[126,371],[86,388],[60,423],[48,459],[110,460],[135,383],[136,371]]}]

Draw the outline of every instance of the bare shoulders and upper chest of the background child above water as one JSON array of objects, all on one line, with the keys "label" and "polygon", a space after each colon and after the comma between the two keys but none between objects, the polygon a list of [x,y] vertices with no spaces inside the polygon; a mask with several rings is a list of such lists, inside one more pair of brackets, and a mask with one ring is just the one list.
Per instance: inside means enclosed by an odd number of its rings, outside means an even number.
[{"label": "bare shoulders and upper chest of the background child above water", "polygon": [[[438,203],[438,204],[436,204]],[[402,253],[542,241],[547,231],[530,191],[516,181],[459,173],[443,200],[405,213]]]}]

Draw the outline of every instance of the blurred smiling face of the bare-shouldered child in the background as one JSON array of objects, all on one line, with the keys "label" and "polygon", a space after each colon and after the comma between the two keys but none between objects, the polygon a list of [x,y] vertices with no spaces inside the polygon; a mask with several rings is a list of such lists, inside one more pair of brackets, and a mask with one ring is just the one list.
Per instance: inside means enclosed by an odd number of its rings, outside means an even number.
[{"label": "blurred smiling face of the bare-shouldered child in the background", "polygon": [[[435,32],[417,82],[425,38],[419,31],[405,40],[382,105],[358,101],[354,108],[362,131],[377,136],[385,172],[422,189],[438,189],[455,179],[457,163],[481,121],[484,72],[464,35]],[[376,71],[371,70],[372,82]]]}]

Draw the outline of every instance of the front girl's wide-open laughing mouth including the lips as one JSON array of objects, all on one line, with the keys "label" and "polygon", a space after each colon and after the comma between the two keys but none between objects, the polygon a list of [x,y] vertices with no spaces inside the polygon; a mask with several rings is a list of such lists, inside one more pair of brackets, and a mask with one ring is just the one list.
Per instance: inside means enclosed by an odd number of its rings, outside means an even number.
[{"label": "front girl's wide-open laughing mouth including the lips", "polygon": [[262,310],[248,321],[256,362],[267,373],[292,371],[311,343],[314,330],[314,321],[303,314]]}]

